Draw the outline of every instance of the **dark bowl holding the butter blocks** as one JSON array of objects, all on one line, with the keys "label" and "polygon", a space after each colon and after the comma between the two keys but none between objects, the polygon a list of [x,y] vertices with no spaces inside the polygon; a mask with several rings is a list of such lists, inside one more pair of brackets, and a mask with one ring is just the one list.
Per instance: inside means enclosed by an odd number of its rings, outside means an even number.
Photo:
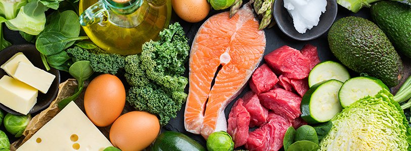
[{"label": "dark bowl holding the butter blocks", "polygon": [[[2,51],[0,51],[0,65],[4,64],[17,52],[23,52],[23,54],[30,60],[31,63],[33,63],[34,66],[45,70],[43,62],[41,61],[40,52],[37,51],[35,45],[33,44],[12,45],[3,49]],[[48,72],[56,75],[56,78],[54,79],[52,85],[49,88],[49,91],[46,94],[38,92],[37,103],[30,110],[29,114],[35,113],[48,107],[50,103],[52,103],[52,101],[57,97],[60,84],[60,72],[53,67]],[[6,71],[0,69],[0,78],[2,78],[4,75],[7,75]],[[22,115],[21,113],[16,112],[1,103],[0,108],[12,114]]]}]

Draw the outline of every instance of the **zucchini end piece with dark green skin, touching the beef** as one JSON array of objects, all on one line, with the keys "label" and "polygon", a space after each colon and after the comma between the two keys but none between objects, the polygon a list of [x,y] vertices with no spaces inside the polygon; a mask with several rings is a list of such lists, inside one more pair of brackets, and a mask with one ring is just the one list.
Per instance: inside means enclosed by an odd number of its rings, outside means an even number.
[{"label": "zucchini end piece with dark green skin, touching the beef", "polygon": [[331,120],[343,109],[338,100],[338,91],[342,82],[332,79],[312,86],[302,97],[302,119],[308,124]]}]

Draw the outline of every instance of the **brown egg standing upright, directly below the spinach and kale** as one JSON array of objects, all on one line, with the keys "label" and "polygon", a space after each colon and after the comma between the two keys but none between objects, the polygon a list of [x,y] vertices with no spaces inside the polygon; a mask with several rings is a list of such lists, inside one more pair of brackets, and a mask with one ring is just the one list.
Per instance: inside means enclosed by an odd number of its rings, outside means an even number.
[{"label": "brown egg standing upright, directly below the spinach and kale", "polygon": [[113,123],[123,111],[124,104],[124,85],[115,75],[101,74],[85,90],[85,113],[97,126]]}]

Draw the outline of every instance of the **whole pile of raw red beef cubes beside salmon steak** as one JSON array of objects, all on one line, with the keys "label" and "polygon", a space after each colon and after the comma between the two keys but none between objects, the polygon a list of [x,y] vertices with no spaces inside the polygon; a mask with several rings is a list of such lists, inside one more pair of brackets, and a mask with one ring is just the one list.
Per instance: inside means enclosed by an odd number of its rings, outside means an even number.
[{"label": "whole pile of raw red beef cubes beside salmon steak", "polygon": [[249,82],[252,91],[237,100],[228,120],[235,147],[245,145],[250,151],[279,150],[288,127],[307,124],[300,117],[300,103],[309,89],[308,74],[320,62],[310,44],[301,51],[282,46],[264,59]]}]

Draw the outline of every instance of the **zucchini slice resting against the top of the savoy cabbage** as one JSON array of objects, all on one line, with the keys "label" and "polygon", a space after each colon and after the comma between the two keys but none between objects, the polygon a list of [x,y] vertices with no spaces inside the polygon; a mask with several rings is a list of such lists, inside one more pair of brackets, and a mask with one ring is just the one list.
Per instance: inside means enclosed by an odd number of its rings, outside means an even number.
[{"label": "zucchini slice resting against the top of the savoy cabbage", "polygon": [[365,96],[374,96],[380,90],[388,89],[388,87],[379,79],[373,77],[355,77],[347,80],[340,89],[338,97],[341,106],[346,108],[355,101]]}]

